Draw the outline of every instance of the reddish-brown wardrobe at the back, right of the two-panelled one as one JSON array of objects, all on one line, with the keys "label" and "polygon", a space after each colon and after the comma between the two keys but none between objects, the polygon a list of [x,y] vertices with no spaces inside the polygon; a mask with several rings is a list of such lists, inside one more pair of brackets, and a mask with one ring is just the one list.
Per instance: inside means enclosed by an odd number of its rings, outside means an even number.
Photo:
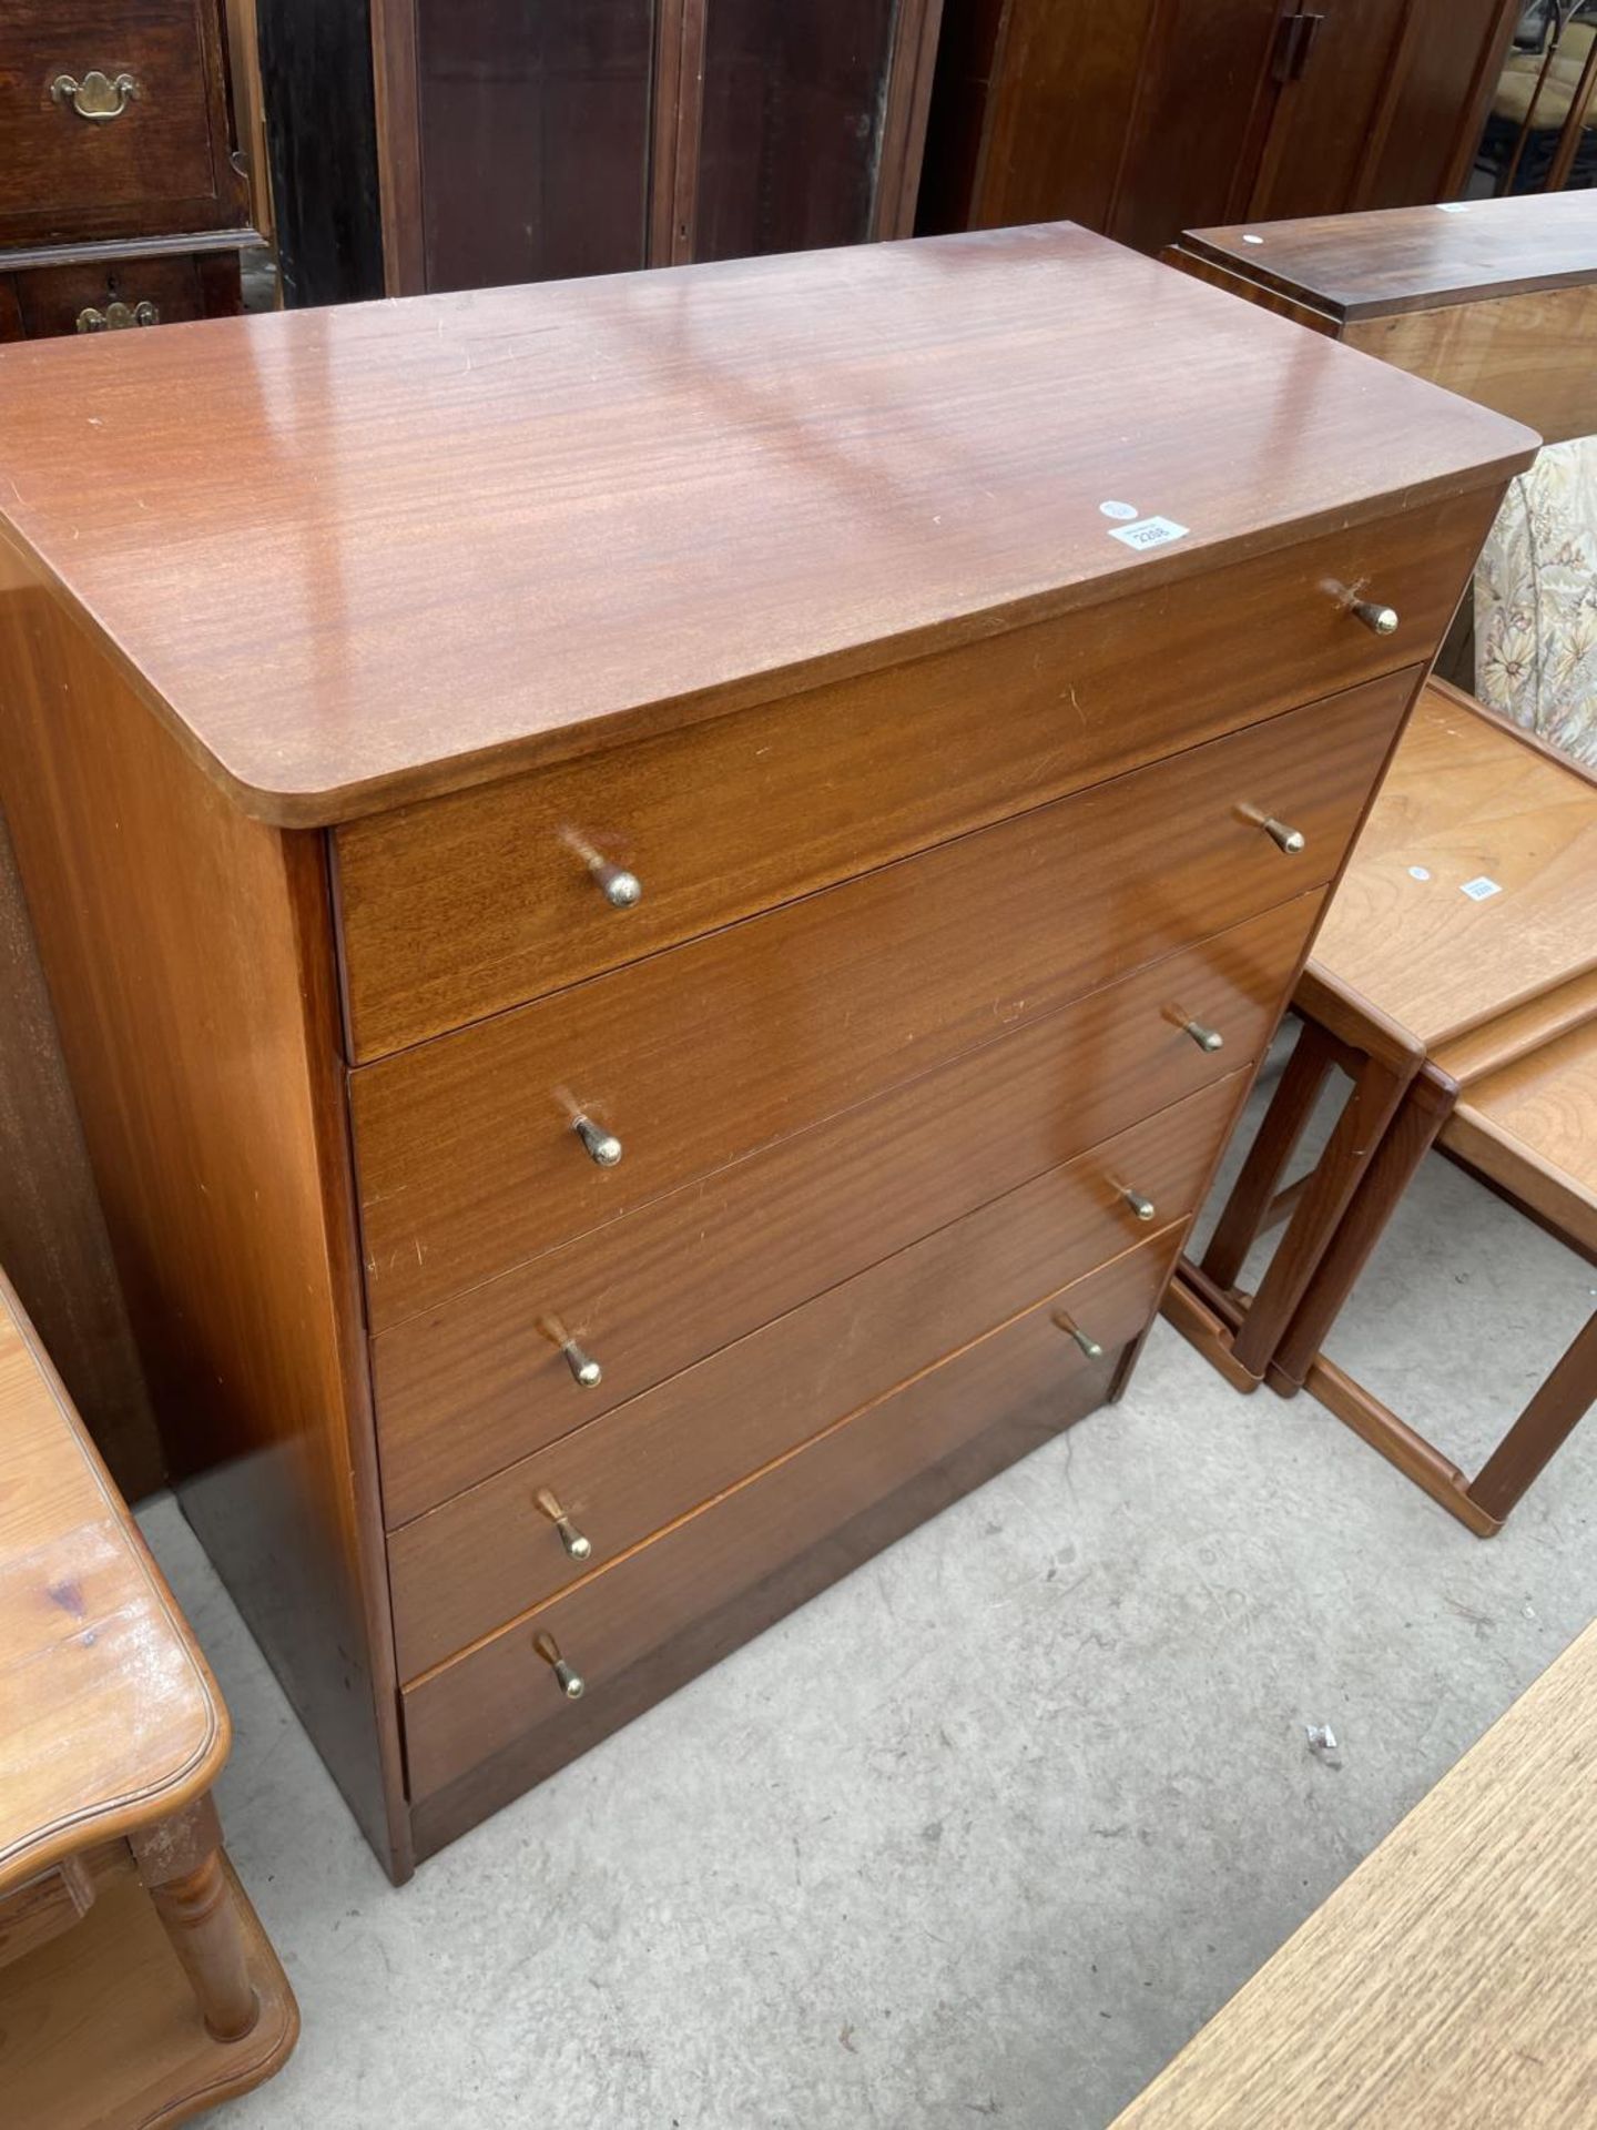
[{"label": "reddish-brown wardrobe at the back, right of the two-panelled one", "polygon": [[922,230],[1444,200],[1522,0],[945,0]]}]

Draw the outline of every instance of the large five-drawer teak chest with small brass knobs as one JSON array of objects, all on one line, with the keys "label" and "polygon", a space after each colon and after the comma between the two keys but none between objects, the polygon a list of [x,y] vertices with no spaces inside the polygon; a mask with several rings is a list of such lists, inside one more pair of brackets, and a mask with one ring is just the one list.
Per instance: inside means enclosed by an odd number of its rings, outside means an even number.
[{"label": "large five-drawer teak chest with small brass knobs", "polygon": [[1533,439],[1069,226],[132,339],[0,356],[4,799],[402,1877],[1118,1391]]}]

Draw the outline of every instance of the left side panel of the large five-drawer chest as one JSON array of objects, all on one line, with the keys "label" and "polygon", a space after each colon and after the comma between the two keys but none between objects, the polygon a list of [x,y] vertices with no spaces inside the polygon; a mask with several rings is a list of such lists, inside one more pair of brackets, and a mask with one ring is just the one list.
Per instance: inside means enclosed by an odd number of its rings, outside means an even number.
[{"label": "left side panel of the large five-drawer chest", "polygon": [[183,1506],[402,1870],[322,850],[0,573],[4,803]]}]

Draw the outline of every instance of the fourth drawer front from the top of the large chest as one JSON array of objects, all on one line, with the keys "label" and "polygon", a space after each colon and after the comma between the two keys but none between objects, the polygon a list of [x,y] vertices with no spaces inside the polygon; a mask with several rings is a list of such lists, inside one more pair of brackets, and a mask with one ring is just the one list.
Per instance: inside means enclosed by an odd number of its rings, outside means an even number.
[{"label": "fourth drawer front from the top of the large chest", "polygon": [[[441,1664],[994,1325],[1184,1223],[1235,1074],[982,1206],[390,1538],[400,1678]],[[1139,1220],[1126,1189],[1156,1212]],[[1092,1331],[1092,1325],[1084,1329]],[[547,1491],[590,1544],[573,1561]]]}]

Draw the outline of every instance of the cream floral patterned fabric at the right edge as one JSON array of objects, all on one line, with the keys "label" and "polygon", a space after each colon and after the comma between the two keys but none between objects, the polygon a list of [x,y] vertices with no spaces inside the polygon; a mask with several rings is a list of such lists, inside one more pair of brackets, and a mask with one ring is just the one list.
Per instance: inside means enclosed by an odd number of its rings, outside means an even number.
[{"label": "cream floral patterned fabric at the right edge", "polygon": [[1548,445],[1486,537],[1476,694],[1597,767],[1597,437]]}]

